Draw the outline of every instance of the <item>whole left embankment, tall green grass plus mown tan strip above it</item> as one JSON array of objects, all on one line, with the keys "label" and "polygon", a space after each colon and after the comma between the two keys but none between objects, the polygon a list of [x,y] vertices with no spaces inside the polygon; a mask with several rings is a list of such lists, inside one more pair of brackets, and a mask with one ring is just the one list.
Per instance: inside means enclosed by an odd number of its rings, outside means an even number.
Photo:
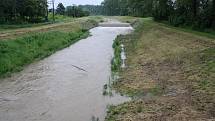
[{"label": "whole left embankment, tall green grass plus mown tan strip above it", "polygon": [[84,17],[69,23],[7,30],[6,34],[3,33],[6,36],[0,38],[0,77],[20,71],[25,65],[88,36],[87,30],[95,27],[101,19]]}]

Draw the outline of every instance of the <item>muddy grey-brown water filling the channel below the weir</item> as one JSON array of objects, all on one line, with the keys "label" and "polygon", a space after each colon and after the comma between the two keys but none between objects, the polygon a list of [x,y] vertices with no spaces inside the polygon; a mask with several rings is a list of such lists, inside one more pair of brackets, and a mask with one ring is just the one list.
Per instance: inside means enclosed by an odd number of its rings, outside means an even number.
[{"label": "muddy grey-brown water filling the channel below the weir", "polygon": [[113,40],[131,31],[93,28],[87,39],[1,79],[0,121],[103,121],[108,105],[129,100],[102,90],[111,76]]}]

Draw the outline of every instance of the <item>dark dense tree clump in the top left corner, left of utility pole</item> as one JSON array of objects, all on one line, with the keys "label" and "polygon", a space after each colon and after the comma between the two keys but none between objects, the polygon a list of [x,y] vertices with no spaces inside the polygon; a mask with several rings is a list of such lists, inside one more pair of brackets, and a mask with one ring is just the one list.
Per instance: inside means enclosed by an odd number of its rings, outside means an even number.
[{"label": "dark dense tree clump in the top left corner, left of utility pole", "polygon": [[40,21],[47,7],[46,0],[0,0],[0,23]]}]

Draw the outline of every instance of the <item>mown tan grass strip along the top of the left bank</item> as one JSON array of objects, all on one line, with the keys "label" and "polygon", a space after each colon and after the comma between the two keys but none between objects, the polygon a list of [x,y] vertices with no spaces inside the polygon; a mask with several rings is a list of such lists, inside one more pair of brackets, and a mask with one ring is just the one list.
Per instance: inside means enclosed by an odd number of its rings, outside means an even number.
[{"label": "mown tan grass strip along the top of the left bank", "polygon": [[[77,31],[80,28],[88,28],[91,24],[100,22],[102,17],[90,16],[81,18],[66,18],[59,19],[59,22],[45,25],[33,24],[30,27],[23,27],[22,25],[14,25],[17,28],[13,28],[10,25],[4,25],[5,29],[0,30],[0,40],[15,39],[28,34],[36,32],[47,32],[47,31]],[[9,28],[7,28],[9,26]],[[21,27],[21,28],[18,28]],[[72,28],[72,29],[71,29]]]}]

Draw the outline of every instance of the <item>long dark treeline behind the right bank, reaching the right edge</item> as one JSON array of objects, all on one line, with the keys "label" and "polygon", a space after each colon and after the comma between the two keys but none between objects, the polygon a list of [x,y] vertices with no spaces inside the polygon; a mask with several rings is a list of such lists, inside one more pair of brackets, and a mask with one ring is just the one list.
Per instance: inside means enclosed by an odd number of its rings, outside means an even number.
[{"label": "long dark treeline behind the right bank, reaching the right edge", "polygon": [[84,8],[95,15],[154,17],[174,26],[215,29],[215,0],[104,0]]}]

